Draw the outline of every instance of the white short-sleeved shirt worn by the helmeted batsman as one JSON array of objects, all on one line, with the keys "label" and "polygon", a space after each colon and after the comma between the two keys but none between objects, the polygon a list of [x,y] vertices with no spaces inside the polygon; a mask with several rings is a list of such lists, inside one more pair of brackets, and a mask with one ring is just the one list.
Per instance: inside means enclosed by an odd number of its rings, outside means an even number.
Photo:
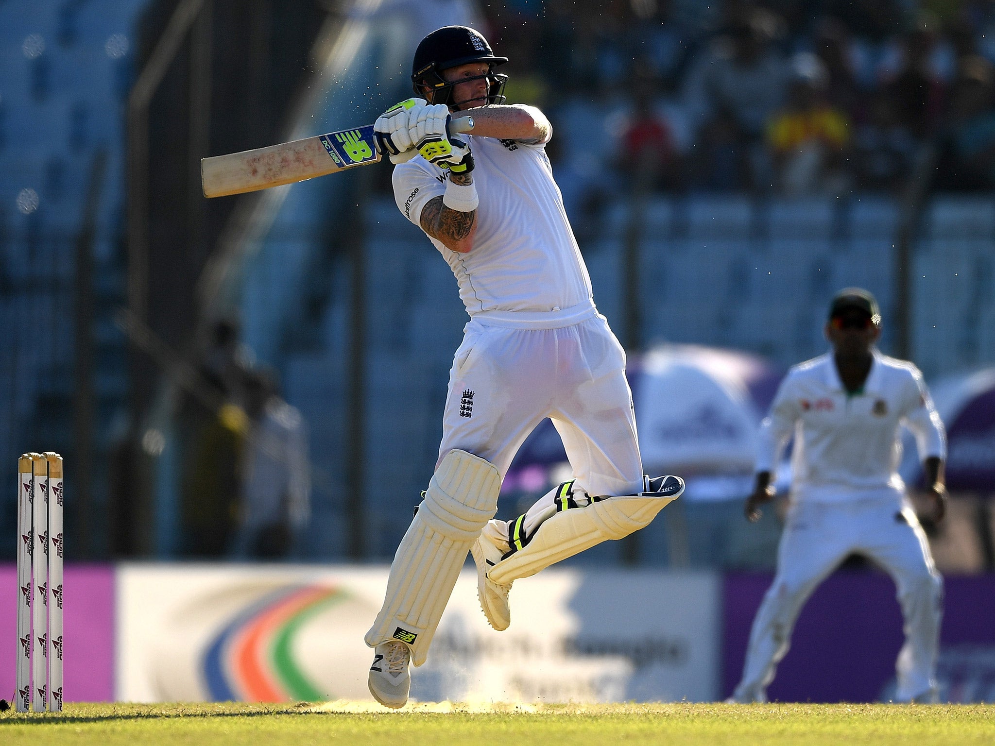
[{"label": "white short-sleeved shirt worn by the helmeted batsman", "polygon": [[[515,328],[554,328],[594,315],[591,279],[545,145],[468,139],[480,195],[474,248],[460,254],[429,237],[453,270],[467,312]],[[446,172],[420,155],[395,166],[398,208],[421,227],[422,209],[446,191],[445,180]]]}]

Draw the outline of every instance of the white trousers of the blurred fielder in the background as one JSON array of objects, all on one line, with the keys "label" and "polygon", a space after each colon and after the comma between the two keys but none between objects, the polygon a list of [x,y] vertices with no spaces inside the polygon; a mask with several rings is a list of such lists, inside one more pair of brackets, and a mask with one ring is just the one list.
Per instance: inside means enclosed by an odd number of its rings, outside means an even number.
[{"label": "white trousers of the blurred fielder in the background", "polygon": [[844,502],[797,502],[788,510],[777,574],[753,620],[736,701],[766,701],[791,631],[816,587],[851,553],[869,557],[895,580],[905,644],[896,661],[899,701],[935,689],[942,580],[911,506],[895,493]]}]

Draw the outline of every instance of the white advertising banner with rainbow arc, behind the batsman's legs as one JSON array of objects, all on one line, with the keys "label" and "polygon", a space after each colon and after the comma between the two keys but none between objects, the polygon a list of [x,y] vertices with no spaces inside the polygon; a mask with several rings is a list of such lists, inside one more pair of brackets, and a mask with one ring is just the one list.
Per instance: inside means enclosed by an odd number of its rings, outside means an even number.
[{"label": "white advertising banner with rainbow arc, behind the batsman's legs", "polygon": [[[116,698],[371,699],[363,643],[386,567],[121,565]],[[718,695],[712,573],[546,570],[492,630],[464,571],[425,665],[421,701],[691,701]]]}]

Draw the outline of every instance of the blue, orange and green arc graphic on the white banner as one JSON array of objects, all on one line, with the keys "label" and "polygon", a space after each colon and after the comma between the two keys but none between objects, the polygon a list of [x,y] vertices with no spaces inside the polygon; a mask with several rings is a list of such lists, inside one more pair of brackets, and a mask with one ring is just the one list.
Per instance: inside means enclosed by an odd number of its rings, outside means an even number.
[{"label": "blue, orange and green arc graphic on the white banner", "polygon": [[328,586],[289,586],[250,604],[208,646],[204,680],[216,702],[315,701],[332,698],[300,669],[292,653],[315,614],[348,598]]}]

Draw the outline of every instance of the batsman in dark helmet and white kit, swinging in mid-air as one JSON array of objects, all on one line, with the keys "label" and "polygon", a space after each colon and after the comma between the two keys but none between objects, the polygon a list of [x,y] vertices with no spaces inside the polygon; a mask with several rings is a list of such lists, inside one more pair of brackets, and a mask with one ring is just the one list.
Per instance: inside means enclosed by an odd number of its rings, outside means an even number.
[{"label": "batsman in dark helmet and white kit, swinging in mid-air", "polygon": [[[443,255],[471,316],[450,371],[439,461],[390,568],[366,644],[370,692],[408,699],[467,553],[491,625],[510,624],[508,591],[606,539],[642,528],[684,490],[644,477],[625,354],[594,305],[591,281],[553,181],[551,128],[537,108],[502,105],[506,76],[487,40],[448,26],[415,52],[416,98],[374,128],[396,165],[397,206]],[[447,135],[470,110],[473,134]],[[545,417],[575,478],[510,524],[492,520],[501,479]]]}]

